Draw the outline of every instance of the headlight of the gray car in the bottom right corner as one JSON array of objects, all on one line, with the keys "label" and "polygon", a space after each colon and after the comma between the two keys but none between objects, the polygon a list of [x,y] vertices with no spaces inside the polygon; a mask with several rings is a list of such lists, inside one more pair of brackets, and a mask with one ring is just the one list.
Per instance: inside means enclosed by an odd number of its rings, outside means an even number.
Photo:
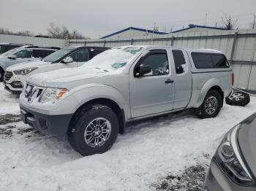
[{"label": "headlight of the gray car in the bottom right corner", "polygon": [[249,174],[241,157],[236,141],[239,127],[240,125],[237,125],[227,133],[214,158],[233,182],[242,186],[255,186],[255,182],[252,180],[252,176]]}]

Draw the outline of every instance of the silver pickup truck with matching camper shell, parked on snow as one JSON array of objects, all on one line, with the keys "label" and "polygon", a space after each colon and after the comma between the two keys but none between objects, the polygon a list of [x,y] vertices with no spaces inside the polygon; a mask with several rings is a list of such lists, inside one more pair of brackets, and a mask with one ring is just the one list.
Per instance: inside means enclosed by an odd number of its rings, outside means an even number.
[{"label": "silver pickup truck with matching camper shell, parked on snow", "polygon": [[81,155],[106,152],[126,122],[194,109],[216,117],[233,87],[217,50],[116,47],[76,69],[35,74],[20,95],[23,122],[68,136]]}]

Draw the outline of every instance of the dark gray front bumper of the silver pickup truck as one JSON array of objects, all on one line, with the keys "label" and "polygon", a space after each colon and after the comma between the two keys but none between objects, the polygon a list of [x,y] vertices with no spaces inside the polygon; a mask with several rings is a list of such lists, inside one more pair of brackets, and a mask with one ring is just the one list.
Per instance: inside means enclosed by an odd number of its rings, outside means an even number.
[{"label": "dark gray front bumper of the silver pickup truck", "polygon": [[41,133],[47,133],[54,136],[65,136],[72,114],[41,114],[20,106],[20,117],[25,124],[31,125]]}]

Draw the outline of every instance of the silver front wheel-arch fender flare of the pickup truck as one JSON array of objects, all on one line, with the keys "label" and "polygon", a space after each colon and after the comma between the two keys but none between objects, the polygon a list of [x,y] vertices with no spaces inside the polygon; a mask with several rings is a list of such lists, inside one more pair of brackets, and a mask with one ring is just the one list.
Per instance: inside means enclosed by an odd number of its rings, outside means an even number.
[{"label": "silver front wheel-arch fender flare of the pickup truck", "polygon": [[[73,107],[74,112],[83,104],[96,99],[96,98],[108,98],[115,101],[120,109],[124,109],[125,119],[127,120],[129,114],[129,103],[116,88],[102,85],[102,84],[87,84],[73,88],[70,93],[78,101],[78,104]],[[85,96],[86,95],[86,96]]]}]

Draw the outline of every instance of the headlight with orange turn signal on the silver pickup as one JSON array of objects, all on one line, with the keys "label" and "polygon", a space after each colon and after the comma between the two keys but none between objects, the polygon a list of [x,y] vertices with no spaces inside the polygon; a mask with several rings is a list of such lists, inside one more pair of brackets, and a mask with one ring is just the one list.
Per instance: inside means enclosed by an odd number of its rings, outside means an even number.
[{"label": "headlight with orange turn signal on the silver pickup", "polygon": [[41,98],[39,98],[39,103],[46,103],[50,102],[52,104],[56,103],[57,101],[63,98],[64,94],[68,93],[68,90],[65,88],[46,88],[45,92],[42,93]]}]

